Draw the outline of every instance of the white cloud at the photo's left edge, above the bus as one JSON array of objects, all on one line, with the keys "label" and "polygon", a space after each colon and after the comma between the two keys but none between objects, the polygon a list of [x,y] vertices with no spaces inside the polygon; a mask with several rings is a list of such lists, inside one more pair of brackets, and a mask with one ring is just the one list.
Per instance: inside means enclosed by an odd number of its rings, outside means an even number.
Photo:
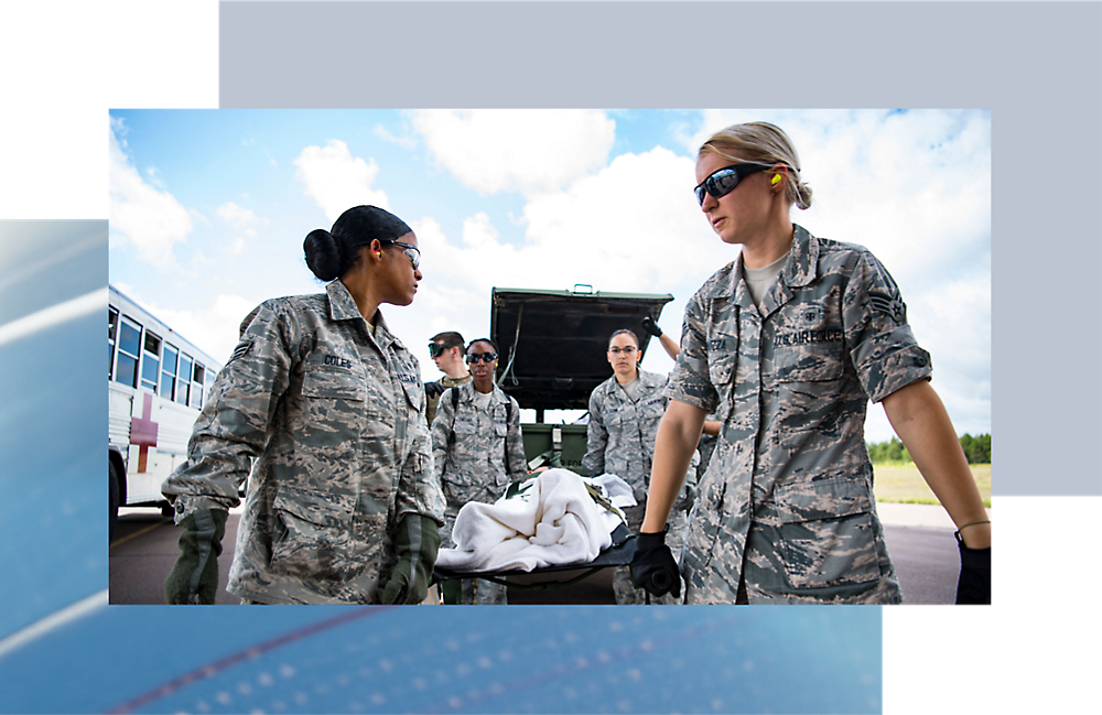
[{"label": "white cloud at the photo's left edge, above the bus", "polygon": [[107,128],[108,220],[114,246],[130,245],[141,260],[162,271],[175,267],[175,243],[192,232],[191,216],[175,196],[142,178],[126,152],[126,126]]}]

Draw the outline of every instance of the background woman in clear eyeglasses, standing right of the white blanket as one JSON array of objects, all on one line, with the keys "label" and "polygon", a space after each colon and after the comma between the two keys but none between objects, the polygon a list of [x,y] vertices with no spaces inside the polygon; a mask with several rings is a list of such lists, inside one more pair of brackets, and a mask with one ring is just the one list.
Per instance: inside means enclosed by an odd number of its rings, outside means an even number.
[{"label": "background woman in clear eyeglasses, standing right of the white blanket", "polygon": [[[639,533],[647,508],[647,484],[655,454],[655,436],[666,412],[667,379],[639,369],[642,353],[639,338],[631,331],[616,331],[608,338],[608,364],[613,377],[590,394],[590,424],[586,430],[586,452],[582,466],[590,476],[614,474],[627,481],[638,505],[624,509],[628,529]],[[695,462],[694,462],[695,464]],[[682,473],[684,475],[684,473]],[[685,509],[692,501],[692,486],[682,479],[678,503],[670,517],[668,543],[678,549],[684,537]],[[680,579],[671,578],[671,595],[657,603],[676,604],[681,594]],[[631,583],[627,568],[617,568],[613,576],[617,604],[641,604],[646,594]]]}]

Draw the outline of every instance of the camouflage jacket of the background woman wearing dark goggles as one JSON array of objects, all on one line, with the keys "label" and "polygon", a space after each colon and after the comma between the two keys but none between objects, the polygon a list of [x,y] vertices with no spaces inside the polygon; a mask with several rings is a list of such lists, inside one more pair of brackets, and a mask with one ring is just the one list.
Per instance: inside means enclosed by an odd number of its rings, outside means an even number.
[{"label": "camouflage jacket of the background woman wearing dark goggles", "polygon": [[[458,392],[456,407],[452,405],[453,390]],[[450,514],[468,501],[493,503],[510,483],[528,476],[520,405],[497,386],[490,404],[491,414],[479,414],[474,382],[440,396],[432,423],[432,455]],[[479,418],[486,424],[491,420],[493,430],[479,430]]]}]

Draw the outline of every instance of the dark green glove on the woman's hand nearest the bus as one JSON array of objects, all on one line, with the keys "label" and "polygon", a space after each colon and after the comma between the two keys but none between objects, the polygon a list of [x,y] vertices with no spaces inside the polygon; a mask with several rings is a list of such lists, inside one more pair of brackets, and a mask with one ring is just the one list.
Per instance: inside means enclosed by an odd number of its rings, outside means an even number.
[{"label": "dark green glove on the woman's hand nearest the bus", "polygon": [[218,591],[218,556],[229,514],[222,509],[198,509],[180,526],[180,557],[164,579],[164,603],[213,605]]}]

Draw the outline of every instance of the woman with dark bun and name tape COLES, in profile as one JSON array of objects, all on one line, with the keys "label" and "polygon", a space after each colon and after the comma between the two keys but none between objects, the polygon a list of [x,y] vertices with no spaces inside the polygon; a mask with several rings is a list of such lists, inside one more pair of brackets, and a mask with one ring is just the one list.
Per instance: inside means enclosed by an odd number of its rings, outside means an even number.
[{"label": "woman with dark bun and name tape COLES, in profile", "polygon": [[241,323],[161,491],[183,527],[170,604],[213,604],[227,512],[252,466],[228,591],[257,604],[424,599],[444,499],[417,358],[378,306],[409,305],[417,236],[375,206],[311,231],[325,292],[266,301]]}]

